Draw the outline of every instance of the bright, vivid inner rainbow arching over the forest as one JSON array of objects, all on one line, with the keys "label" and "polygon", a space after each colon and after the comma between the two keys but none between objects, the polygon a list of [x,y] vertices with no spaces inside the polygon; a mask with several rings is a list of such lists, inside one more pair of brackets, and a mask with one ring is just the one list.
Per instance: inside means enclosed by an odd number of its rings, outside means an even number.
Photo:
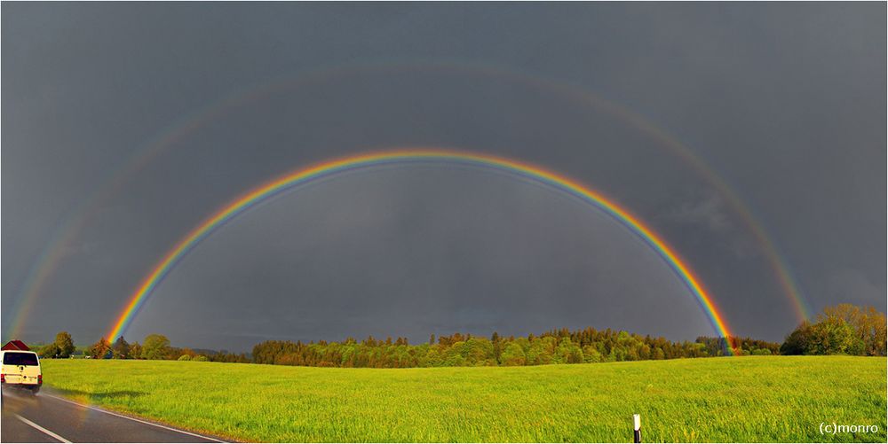
[{"label": "bright, vivid inner rainbow arching over the forest", "polygon": [[283,191],[287,191],[298,185],[320,179],[328,175],[334,175],[347,170],[353,170],[363,167],[373,167],[377,165],[409,163],[409,162],[435,162],[443,161],[448,163],[464,164],[475,167],[490,167],[496,170],[505,171],[512,174],[518,174],[533,180],[537,183],[549,185],[560,191],[566,191],[577,198],[591,203],[605,213],[609,214],[617,222],[635,233],[647,245],[654,249],[675,274],[686,284],[698,302],[703,311],[709,317],[712,327],[717,333],[724,337],[730,338],[732,335],[725,323],[724,316],[718,311],[712,297],[703,288],[700,279],[694,276],[694,273],[686,265],[685,261],[678,257],[672,248],[654,233],[654,230],[648,228],[644,223],[638,220],[629,211],[614,203],[614,201],[605,198],[598,191],[593,191],[582,183],[576,182],[564,175],[553,173],[543,167],[530,165],[519,160],[510,160],[501,157],[491,156],[488,154],[458,152],[441,149],[405,149],[393,150],[385,152],[371,152],[366,154],[345,157],[337,160],[329,160],[313,167],[298,169],[287,175],[283,175],[266,183],[258,188],[247,192],[241,197],[234,199],[231,203],[219,209],[212,214],[209,219],[202,222],[194,230],[191,230],[185,238],[166,253],[154,269],[139,284],[139,288],[132,293],[129,303],[123,309],[121,315],[117,318],[114,326],[109,331],[108,340],[114,340],[118,336],[123,335],[127,327],[139,313],[139,308],[145,303],[148,297],[154,292],[158,284],[163,281],[170,270],[173,269],[178,261],[180,261],[188,252],[201,243],[204,238],[225,225],[226,222],[234,219],[238,214],[242,214],[258,203],[270,199]]}]

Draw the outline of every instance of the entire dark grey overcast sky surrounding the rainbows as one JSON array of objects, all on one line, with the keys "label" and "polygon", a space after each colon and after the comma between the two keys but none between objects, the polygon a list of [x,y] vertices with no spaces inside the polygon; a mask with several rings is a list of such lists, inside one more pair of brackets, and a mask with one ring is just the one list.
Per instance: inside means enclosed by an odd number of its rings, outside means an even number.
[{"label": "entire dark grey overcast sky surrounding the rainbows", "polygon": [[[782,339],[798,318],[762,245],[645,125],[731,186],[815,311],[885,310],[884,3],[2,9],[4,335],[28,306],[21,339],[94,342],[163,253],[243,191],[330,157],[445,146],[604,191],[686,258],[733,331]],[[180,262],[126,338],[247,351],[587,325],[714,334],[668,266],[598,210],[509,175],[414,165],[243,214]]]}]

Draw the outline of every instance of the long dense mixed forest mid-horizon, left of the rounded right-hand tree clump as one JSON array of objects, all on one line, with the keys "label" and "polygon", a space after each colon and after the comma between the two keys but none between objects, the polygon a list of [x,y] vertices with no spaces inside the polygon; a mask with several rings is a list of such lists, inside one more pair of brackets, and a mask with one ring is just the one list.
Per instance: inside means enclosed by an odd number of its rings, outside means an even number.
[{"label": "long dense mixed forest mid-horizon, left of the rounded right-hand tree clump", "polygon": [[[743,338],[732,339],[741,354],[777,354],[780,344]],[[410,345],[407,339],[353,338],[343,342],[270,340],[253,347],[253,362],[316,367],[460,367],[516,366],[553,363],[640,361],[698,358],[727,354],[723,338],[698,338],[672,342],[626,331],[547,331],[539,336],[490,338],[454,333],[432,336],[428,342]]]}]

